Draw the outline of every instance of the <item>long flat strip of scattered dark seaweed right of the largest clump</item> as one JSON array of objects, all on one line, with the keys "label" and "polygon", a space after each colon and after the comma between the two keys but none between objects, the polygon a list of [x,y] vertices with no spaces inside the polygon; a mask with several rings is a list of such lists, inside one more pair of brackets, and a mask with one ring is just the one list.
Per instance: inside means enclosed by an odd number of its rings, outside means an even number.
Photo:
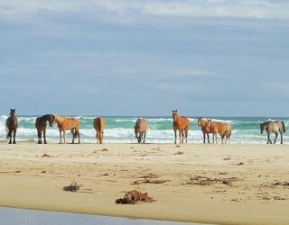
[{"label": "long flat strip of scattered dark seaweed right of the largest clump", "polygon": [[193,185],[227,184],[229,186],[232,186],[232,182],[238,180],[239,179],[237,177],[215,178],[215,177],[194,175],[190,178],[190,181],[187,184]]}]

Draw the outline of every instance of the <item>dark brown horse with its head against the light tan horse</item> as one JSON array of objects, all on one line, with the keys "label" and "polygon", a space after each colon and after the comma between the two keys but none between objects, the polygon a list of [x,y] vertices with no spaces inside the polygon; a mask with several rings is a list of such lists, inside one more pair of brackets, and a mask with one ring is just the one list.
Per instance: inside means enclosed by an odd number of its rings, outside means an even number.
[{"label": "dark brown horse with its head against the light tan horse", "polygon": [[44,144],[47,144],[46,142],[47,121],[49,121],[49,125],[52,127],[55,121],[55,116],[52,114],[46,114],[46,115],[36,118],[35,128],[37,129],[37,134],[38,134],[38,144],[42,144],[42,132],[43,132]]}]

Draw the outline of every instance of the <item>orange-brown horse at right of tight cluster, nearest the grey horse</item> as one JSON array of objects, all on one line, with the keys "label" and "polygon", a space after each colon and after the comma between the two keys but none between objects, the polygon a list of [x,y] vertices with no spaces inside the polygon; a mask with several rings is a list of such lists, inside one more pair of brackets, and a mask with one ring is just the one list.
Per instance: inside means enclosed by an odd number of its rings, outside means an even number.
[{"label": "orange-brown horse at right of tight cluster, nearest the grey horse", "polygon": [[226,141],[225,143],[227,143],[227,140],[229,142],[229,139],[231,137],[231,133],[232,133],[232,128],[231,125],[227,124],[227,123],[221,123],[221,122],[215,122],[215,121],[211,121],[208,120],[208,128],[210,130],[210,132],[213,133],[213,143],[216,140],[217,142],[217,133],[219,133],[220,137],[221,137],[221,143],[224,143],[224,138],[226,136]]}]

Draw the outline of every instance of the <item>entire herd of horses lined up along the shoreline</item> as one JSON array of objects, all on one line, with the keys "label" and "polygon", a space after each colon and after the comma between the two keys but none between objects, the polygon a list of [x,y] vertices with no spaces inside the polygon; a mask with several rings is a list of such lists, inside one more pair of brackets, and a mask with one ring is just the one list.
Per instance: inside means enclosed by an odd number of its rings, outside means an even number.
[{"label": "entire herd of horses lined up along the shoreline", "polygon": [[[180,144],[183,143],[183,139],[186,139],[188,142],[188,132],[190,129],[190,121],[185,116],[179,116],[177,110],[172,110],[172,127],[174,131],[174,144],[177,143],[177,132],[179,132]],[[79,134],[79,120],[76,118],[64,117],[61,115],[46,114],[41,117],[37,117],[35,121],[35,128],[37,129],[38,135],[38,144],[42,144],[42,134],[44,144],[47,144],[46,141],[46,127],[47,122],[52,127],[54,122],[57,123],[58,129],[60,131],[60,144],[65,141],[66,130],[70,130],[72,134],[72,143],[74,144],[74,139],[78,139],[80,143],[80,134]],[[209,135],[213,136],[213,143],[217,142],[217,135],[219,134],[221,138],[221,143],[229,143],[230,137],[232,134],[231,125],[228,123],[216,122],[211,120],[204,120],[201,117],[198,117],[198,125],[200,130],[203,133],[203,143],[206,143],[206,137],[208,143],[210,143]],[[96,130],[97,143],[102,144],[104,138],[104,130],[106,126],[106,121],[98,117],[93,121],[93,127]],[[10,109],[10,116],[5,121],[5,129],[7,132],[7,139],[9,139],[9,144],[15,144],[16,130],[18,128],[18,120],[15,115],[15,109]],[[139,118],[135,122],[135,138],[138,143],[145,143],[146,131],[148,128],[148,121],[146,119]],[[283,135],[286,131],[284,121],[265,121],[260,123],[261,134],[264,130],[267,133],[267,144],[272,144],[270,139],[270,134],[275,133],[275,140],[278,137],[278,132],[281,135],[281,144],[283,144]],[[13,138],[13,141],[12,141]],[[226,139],[225,139],[226,138]],[[143,140],[144,139],[144,140]],[[224,141],[225,139],[225,141]]]}]

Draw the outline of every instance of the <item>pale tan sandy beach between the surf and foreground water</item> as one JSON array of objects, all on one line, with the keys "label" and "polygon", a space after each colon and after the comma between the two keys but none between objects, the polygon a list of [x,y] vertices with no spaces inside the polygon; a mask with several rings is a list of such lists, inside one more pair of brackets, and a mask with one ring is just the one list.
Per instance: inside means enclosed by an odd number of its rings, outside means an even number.
[{"label": "pale tan sandy beach between the surf and foreground water", "polygon": [[[0,205],[220,224],[289,223],[288,145],[0,144]],[[145,182],[161,183],[145,183]],[[75,193],[63,191],[71,182]],[[156,202],[119,205],[130,190]]]}]

